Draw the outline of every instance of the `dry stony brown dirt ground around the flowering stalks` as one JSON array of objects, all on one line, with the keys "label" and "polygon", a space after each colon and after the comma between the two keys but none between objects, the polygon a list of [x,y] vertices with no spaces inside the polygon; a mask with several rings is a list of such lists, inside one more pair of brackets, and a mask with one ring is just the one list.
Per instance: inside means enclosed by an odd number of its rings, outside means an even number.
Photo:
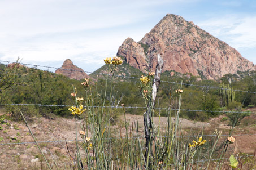
[{"label": "dry stony brown dirt ground around the flowering stalks", "polygon": [[[251,111],[256,112],[256,109]],[[3,114],[3,113],[2,113]],[[215,129],[220,129],[223,134],[228,134],[229,126],[228,121],[222,122],[223,116],[212,118],[208,122],[195,122],[180,118],[180,123],[183,128],[183,135],[191,135],[190,132],[195,132],[193,135],[200,135],[202,127],[204,135],[213,135]],[[173,118],[172,118],[173,119]],[[138,122],[141,135],[144,133],[143,117],[140,115],[127,115],[127,120],[132,124]],[[120,130],[119,127],[124,122],[124,117],[116,120],[118,123],[113,125],[113,129]],[[40,151],[37,146],[32,143],[33,137],[30,135],[25,123],[17,123],[8,121],[8,125],[1,124],[0,130],[0,169],[46,169]],[[160,124],[160,128],[164,129],[167,124],[167,118],[161,117],[154,118],[155,124]],[[70,159],[67,153],[67,147],[70,153],[75,150],[75,142],[40,142],[40,141],[57,141],[57,140],[75,140],[75,119],[67,118],[35,118],[33,123],[29,123],[32,133],[36,137],[42,151],[47,155],[50,164],[54,165],[51,156],[58,164],[68,166]],[[123,128],[124,130],[124,128]],[[233,134],[254,134],[245,136],[234,136],[235,143],[232,145],[234,153],[248,153],[253,154],[256,149],[256,114],[250,115],[242,120],[242,123],[235,127]],[[27,143],[26,143],[27,142]],[[13,143],[26,143],[26,144],[13,144]],[[6,144],[6,145],[3,145]],[[66,163],[66,164],[65,164]],[[64,167],[64,166],[63,166]]]}]

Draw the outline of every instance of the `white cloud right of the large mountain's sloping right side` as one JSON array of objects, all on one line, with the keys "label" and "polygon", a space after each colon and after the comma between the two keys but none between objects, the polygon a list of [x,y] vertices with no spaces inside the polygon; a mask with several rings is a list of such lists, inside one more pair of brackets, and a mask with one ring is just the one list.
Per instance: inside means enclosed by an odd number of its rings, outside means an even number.
[{"label": "white cloud right of the large mountain's sloping right side", "polygon": [[[241,51],[241,55],[256,64],[256,16],[229,14],[222,17],[214,17],[198,23],[198,26],[210,34]],[[245,54],[245,55],[243,55]]]}]

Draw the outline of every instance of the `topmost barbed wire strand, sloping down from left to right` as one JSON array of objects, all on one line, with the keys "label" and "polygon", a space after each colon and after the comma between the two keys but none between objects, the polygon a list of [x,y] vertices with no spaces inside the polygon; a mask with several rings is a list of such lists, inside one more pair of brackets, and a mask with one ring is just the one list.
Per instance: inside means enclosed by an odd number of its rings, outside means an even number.
[{"label": "topmost barbed wire strand, sloping down from left to right", "polygon": [[[14,61],[5,61],[5,60],[0,60],[0,62],[8,62],[8,63],[17,63]],[[100,74],[100,75],[111,75],[112,74],[107,74],[107,73],[97,73],[97,72],[91,72],[91,71],[83,71],[83,70],[73,70],[73,69],[63,69],[63,68],[56,68],[53,66],[44,66],[44,65],[35,65],[35,64],[25,64],[25,63],[19,63],[22,65],[30,65],[30,66],[35,66],[35,67],[42,67],[42,68],[51,68],[51,69],[60,69],[60,70],[68,70],[68,71],[79,71],[79,72],[84,72],[84,73],[89,73],[89,74]],[[131,78],[131,79],[140,79],[138,77],[130,77],[130,76],[125,76],[125,75],[114,75],[114,77],[123,77],[123,78]],[[213,89],[222,89],[222,90],[231,90],[231,91],[236,91],[236,92],[246,92],[246,93],[256,93],[256,92],[251,92],[251,91],[244,91],[244,90],[234,90],[234,89],[229,89],[229,88],[220,88],[220,87],[214,87],[214,86],[203,86],[203,85],[197,85],[197,84],[188,84],[188,83],[179,83],[179,82],[170,82],[170,81],[164,81],[160,80],[160,82],[165,82],[165,83],[172,83],[172,84],[181,84],[185,86],[195,86],[195,87],[203,87],[203,88],[213,88]]]}]

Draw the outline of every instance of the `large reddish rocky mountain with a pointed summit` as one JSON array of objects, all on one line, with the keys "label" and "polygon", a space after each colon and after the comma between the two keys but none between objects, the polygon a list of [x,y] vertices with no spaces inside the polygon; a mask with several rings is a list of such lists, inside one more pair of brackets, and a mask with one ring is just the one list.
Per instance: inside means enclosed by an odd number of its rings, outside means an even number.
[{"label": "large reddish rocky mountain with a pointed summit", "polygon": [[140,42],[126,39],[117,55],[145,72],[155,68],[158,53],[164,60],[163,71],[174,70],[196,76],[202,73],[207,79],[255,70],[253,62],[227,43],[173,14],[167,14]]}]

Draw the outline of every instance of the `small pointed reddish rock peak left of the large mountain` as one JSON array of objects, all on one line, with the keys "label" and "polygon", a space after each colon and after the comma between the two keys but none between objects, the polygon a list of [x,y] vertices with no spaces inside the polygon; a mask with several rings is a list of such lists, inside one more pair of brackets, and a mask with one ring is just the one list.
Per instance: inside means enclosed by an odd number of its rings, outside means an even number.
[{"label": "small pointed reddish rock peak left of the large mountain", "polygon": [[[72,70],[78,70],[78,71],[72,71]],[[75,66],[70,59],[65,60],[63,62],[61,69],[57,69],[55,73],[65,75],[71,79],[76,79],[76,80],[90,78],[89,75],[87,75],[83,69]]]}]

